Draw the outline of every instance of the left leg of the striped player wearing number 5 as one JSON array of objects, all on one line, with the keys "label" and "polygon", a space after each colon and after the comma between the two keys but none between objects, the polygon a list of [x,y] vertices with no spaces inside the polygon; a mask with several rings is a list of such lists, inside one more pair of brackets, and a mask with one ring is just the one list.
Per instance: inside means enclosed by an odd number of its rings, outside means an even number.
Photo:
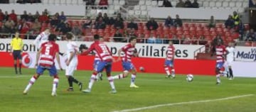
[{"label": "left leg of the striped player wearing number 5", "polygon": [[34,74],[33,77],[31,77],[31,79],[29,80],[28,85],[26,86],[25,90],[23,91],[23,94],[28,94],[29,89],[36,82],[36,80],[40,77],[40,75],[43,74],[44,70],[46,70],[46,68],[43,68],[41,66],[37,67],[36,74]]}]

